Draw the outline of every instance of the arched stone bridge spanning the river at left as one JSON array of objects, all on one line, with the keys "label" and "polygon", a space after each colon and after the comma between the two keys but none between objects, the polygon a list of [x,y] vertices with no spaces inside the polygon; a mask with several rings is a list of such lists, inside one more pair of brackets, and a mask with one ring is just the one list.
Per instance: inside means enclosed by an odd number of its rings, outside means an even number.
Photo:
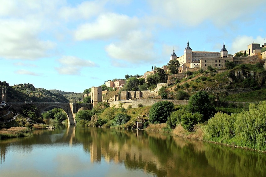
[{"label": "arched stone bridge spanning the river at left", "polygon": [[93,105],[90,103],[56,103],[56,102],[8,102],[17,112],[22,112],[22,109],[35,106],[38,109],[37,116],[51,107],[59,107],[67,113],[68,125],[76,125],[76,114],[80,108],[92,110]]}]

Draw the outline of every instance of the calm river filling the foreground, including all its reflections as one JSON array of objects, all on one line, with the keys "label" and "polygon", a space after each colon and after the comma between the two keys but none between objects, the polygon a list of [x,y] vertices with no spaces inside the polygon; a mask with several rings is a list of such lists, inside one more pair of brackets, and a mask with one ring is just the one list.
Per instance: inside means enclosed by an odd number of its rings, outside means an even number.
[{"label": "calm river filling the foreground, including all its reflections", "polygon": [[0,176],[266,176],[266,154],[108,128],[38,130],[0,140]]}]

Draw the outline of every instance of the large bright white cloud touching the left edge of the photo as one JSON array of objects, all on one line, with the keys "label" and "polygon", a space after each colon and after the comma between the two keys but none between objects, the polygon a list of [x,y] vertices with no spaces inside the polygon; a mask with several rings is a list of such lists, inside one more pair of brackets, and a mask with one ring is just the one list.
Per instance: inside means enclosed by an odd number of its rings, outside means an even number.
[{"label": "large bright white cloud touching the left edge of the photo", "polygon": [[0,20],[0,56],[8,59],[35,60],[48,56],[55,44],[38,39],[37,21]]}]

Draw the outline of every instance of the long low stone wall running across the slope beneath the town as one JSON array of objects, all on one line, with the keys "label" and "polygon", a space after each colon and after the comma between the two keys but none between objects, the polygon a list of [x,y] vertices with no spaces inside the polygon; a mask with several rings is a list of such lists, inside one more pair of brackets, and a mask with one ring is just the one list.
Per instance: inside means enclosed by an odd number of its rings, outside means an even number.
[{"label": "long low stone wall running across the slope beneath the town", "polygon": [[119,108],[119,106],[123,106],[125,109],[128,108],[129,105],[131,105],[132,108],[138,107],[138,105],[143,106],[152,106],[156,102],[161,101],[168,101],[172,102],[174,105],[187,105],[189,103],[189,100],[124,100],[124,101],[115,101],[115,102],[109,102],[110,107],[116,107]]}]

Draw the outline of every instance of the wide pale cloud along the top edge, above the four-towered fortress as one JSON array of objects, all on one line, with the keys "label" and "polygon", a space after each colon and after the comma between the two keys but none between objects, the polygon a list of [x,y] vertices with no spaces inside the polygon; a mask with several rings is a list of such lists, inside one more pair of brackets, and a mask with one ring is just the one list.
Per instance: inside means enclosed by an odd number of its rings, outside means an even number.
[{"label": "wide pale cloud along the top edge, above the four-towered fortress", "polygon": [[[213,0],[180,1],[180,0],[149,0],[158,23],[177,26],[197,26],[207,20],[217,26],[228,25],[232,20],[243,17],[244,21],[250,11],[248,0],[223,0],[219,3]],[[252,9],[261,5],[261,1],[254,0]],[[155,19],[157,17],[154,17]]]}]

